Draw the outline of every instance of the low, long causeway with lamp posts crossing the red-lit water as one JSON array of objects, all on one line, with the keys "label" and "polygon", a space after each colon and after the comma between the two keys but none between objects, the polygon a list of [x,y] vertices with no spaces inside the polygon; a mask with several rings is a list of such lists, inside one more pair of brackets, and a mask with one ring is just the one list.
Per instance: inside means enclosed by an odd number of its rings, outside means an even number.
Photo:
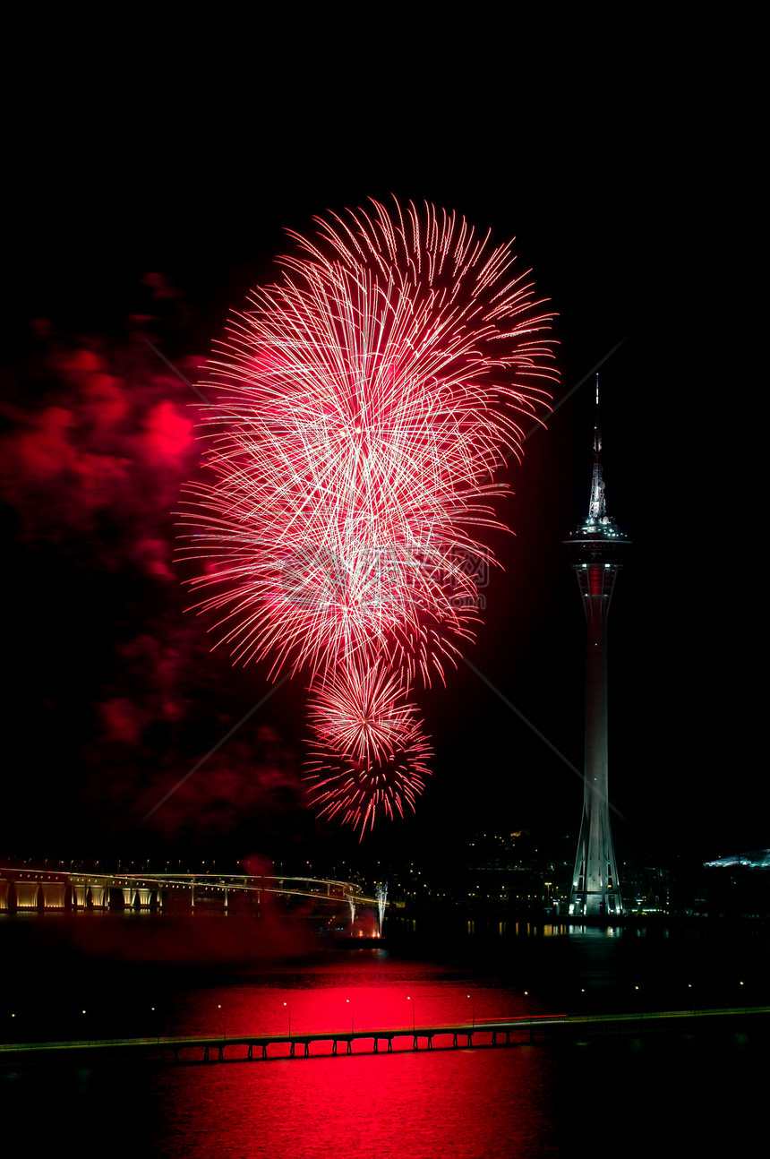
[{"label": "low, long causeway with lamp posts crossing the red-lit water", "polygon": [[[457,1049],[460,1047],[515,1045],[587,1035],[647,1034],[654,1030],[696,1032],[770,1027],[770,1006],[732,1007],[705,1011],[658,1011],[631,1014],[541,1014],[505,1021],[455,1022],[440,1026],[388,1027],[366,1030],[327,1030],[310,1034],[248,1034],[233,1036],[188,1036],[152,1038],[103,1038],[80,1042],[29,1042],[0,1044],[0,1064],[12,1059],[52,1056],[122,1057],[146,1056],[175,1062],[247,1060],[267,1058],[308,1058],[310,1047],[325,1049],[314,1056],[352,1055],[353,1043],[372,1043],[372,1052]],[[394,1051],[394,1042],[399,1045]],[[288,1052],[286,1052],[288,1047]],[[329,1049],[331,1048],[331,1049]],[[272,1054],[270,1050],[272,1049]],[[360,1054],[361,1051],[357,1051]]]}]

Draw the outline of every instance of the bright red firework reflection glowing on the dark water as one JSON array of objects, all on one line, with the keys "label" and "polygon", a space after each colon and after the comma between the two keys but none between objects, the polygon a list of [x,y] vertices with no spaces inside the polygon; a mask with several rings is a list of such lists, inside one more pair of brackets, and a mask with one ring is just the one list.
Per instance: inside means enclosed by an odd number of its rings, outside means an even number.
[{"label": "bright red firework reflection glowing on the dark water", "polygon": [[[469,991],[469,986],[472,987]],[[291,975],[263,975],[254,984],[198,992],[188,1016],[217,1029],[217,1004],[227,1005],[227,1033],[257,1029],[359,1032],[423,1022],[476,1022],[523,1013],[523,997],[479,984],[461,970],[395,964],[381,950],[360,962]],[[192,1030],[192,1027],[190,1027]],[[201,1029],[196,1027],[196,1030]],[[489,1043],[478,1032],[476,1041]],[[553,1153],[551,1054],[542,1047],[479,1045],[412,1049],[412,1035],[374,1054],[359,1040],[352,1056],[331,1043],[313,1043],[310,1057],[288,1059],[288,1045],[271,1045],[265,1062],[240,1060],[243,1047],[226,1048],[225,1062],[168,1065],[156,1072],[157,1144],[164,1156],[239,1154],[310,1159],[544,1156]],[[213,1055],[212,1055],[213,1058]],[[228,1060],[232,1058],[233,1060]],[[239,1059],[239,1060],[235,1060]]]}]

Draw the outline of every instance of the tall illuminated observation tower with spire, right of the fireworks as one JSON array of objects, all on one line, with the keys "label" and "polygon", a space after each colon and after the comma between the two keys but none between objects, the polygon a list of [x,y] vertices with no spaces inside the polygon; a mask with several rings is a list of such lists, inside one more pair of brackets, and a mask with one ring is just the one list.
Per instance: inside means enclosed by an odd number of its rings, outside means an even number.
[{"label": "tall illuminated observation tower with spire, right of the fireworks", "polygon": [[607,794],[607,617],[630,540],[607,515],[599,430],[599,374],[595,408],[588,518],[565,540],[586,613],[582,821],[570,892],[570,914],[574,917],[611,917],[623,909]]}]

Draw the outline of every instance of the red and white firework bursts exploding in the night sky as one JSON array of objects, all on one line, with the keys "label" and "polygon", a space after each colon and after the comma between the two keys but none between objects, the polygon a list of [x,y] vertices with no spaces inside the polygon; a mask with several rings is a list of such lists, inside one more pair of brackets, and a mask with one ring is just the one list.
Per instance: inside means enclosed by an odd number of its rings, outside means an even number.
[{"label": "red and white firework bursts exploding in the night sky", "polygon": [[474,636],[476,537],[548,408],[552,315],[511,245],[455,214],[316,221],[210,362],[184,554],[235,661],[307,672],[311,796],[362,833],[424,788],[410,687]]}]

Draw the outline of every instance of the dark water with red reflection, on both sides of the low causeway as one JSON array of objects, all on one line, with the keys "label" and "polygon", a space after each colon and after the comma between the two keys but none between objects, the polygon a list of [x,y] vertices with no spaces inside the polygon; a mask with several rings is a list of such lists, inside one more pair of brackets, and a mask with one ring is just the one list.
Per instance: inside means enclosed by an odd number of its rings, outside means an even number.
[{"label": "dark water with red reflection, on both sides of the low causeway", "polygon": [[[768,946],[758,936],[523,926],[491,939],[481,931],[435,945],[393,938],[387,948],[321,954],[288,927],[272,932],[272,953],[262,933],[254,936],[223,918],[195,928],[138,916],[8,919],[0,923],[3,1037],[278,1033],[289,1013],[293,1030],[309,1032],[483,1021],[581,1001],[625,1009],[727,1005],[738,994],[767,1001]],[[200,957],[205,969],[195,965]],[[706,1000],[688,1001],[694,991]],[[410,1047],[404,1040],[374,1055],[361,1044],[353,1056],[293,1060],[277,1050],[267,1062],[5,1063],[6,1130],[23,1123],[28,1156],[75,1147],[86,1157],[190,1159],[674,1147],[711,1156],[764,1131],[768,1043],[758,1029]]]}]

